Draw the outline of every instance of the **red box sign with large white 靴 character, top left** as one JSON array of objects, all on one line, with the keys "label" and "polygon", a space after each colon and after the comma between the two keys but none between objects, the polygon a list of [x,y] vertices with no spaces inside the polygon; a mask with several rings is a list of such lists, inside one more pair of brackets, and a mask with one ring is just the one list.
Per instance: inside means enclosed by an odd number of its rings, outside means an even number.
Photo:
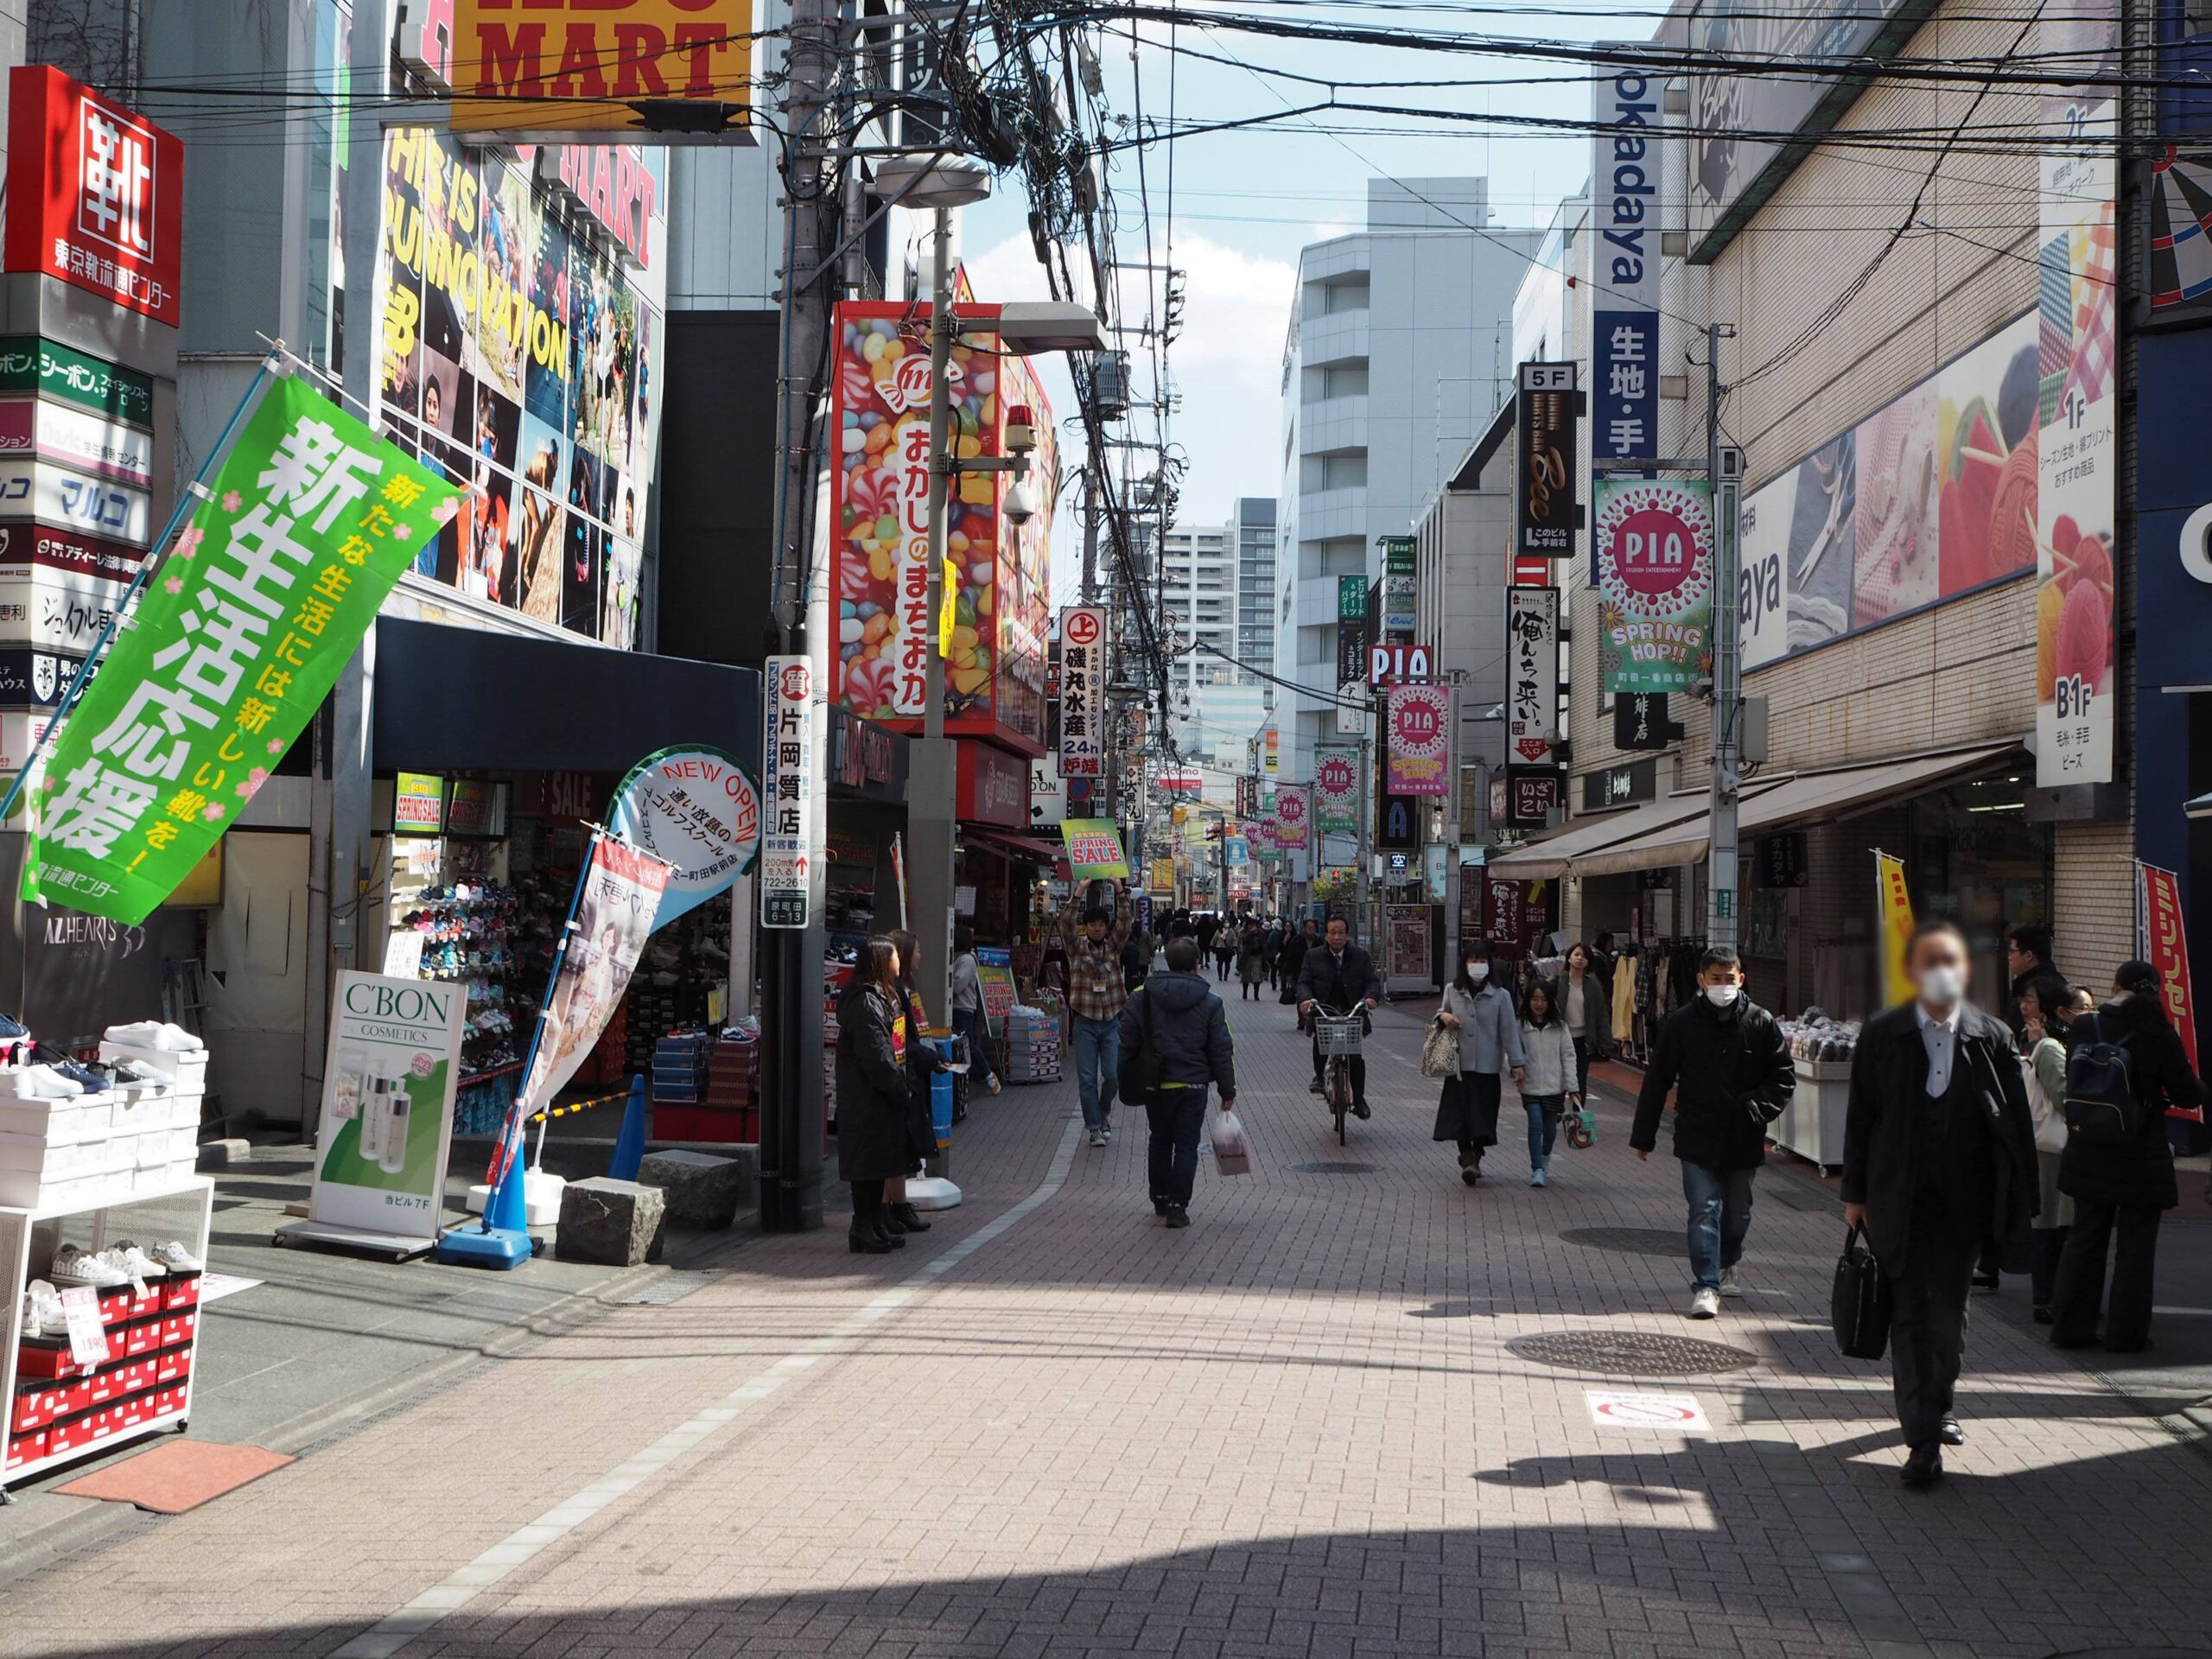
[{"label": "red box sign with large white \u9774 character, top left", "polygon": [[184,142],[60,69],[9,71],[4,263],[181,319]]}]

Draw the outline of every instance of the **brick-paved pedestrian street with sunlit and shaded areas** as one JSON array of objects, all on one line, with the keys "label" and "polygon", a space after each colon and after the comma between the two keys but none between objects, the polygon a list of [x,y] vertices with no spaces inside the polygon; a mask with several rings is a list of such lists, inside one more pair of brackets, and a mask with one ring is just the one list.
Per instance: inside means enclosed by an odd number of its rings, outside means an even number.
[{"label": "brick-paved pedestrian street with sunlit and shaded areas", "polygon": [[[1750,1294],[1690,1325],[1679,1254],[1559,1237],[1679,1232],[1672,1159],[1626,1150],[1626,1073],[1546,1190],[1509,1093],[1469,1192],[1413,1020],[1380,1018],[1347,1148],[1290,1011],[1230,1020],[1256,1172],[1201,1166],[1192,1230],[1144,1203],[1141,1128],[1091,1150],[1073,1079],[1009,1088],[962,1130],[969,1203],[914,1248],[752,1243],[18,1579],[0,1652],[2201,1650],[2212,1460],[2015,1323],[2017,1285],[1975,1307],[1953,1478],[1905,1493],[1887,1367],[1827,1336],[1840,1223],[1809,1175],[1761,1177]],[[1506,1347],[1544,1332],[1747,1363]],[[1712,1433],[1597,1429],[1586,1389],[1694,1396]]]}]

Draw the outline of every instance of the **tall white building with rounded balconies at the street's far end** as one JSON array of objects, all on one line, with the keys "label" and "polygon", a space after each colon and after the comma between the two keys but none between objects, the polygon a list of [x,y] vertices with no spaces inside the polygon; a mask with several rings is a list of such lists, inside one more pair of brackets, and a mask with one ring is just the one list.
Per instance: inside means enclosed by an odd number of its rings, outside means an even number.
[{"label": "tall white building with rounded balconies at the street's far end", "polygon": [[[1283,349],[1276,672],[1336,695],[1336,577],[1380,575],[1513,387],[1513,296],[1540,232],[1486,179],[1369,179],[1367,228],[1310,243]],[[1279,776],[1312,774],[1334,703],[1283,692]]]}]

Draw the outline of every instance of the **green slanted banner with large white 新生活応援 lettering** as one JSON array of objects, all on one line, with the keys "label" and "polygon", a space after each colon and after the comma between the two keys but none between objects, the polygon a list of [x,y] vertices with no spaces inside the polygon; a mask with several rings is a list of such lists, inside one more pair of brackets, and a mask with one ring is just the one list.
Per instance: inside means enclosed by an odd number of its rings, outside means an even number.
[{"label": "green slanted banner with large white \u65b0\u751f\u6d3b\u5fdc\u63f4 lettering", "polygon": [[301,380],[270,387],[46,754],[22,896],[144,922],[305,730],[456,500]]}]

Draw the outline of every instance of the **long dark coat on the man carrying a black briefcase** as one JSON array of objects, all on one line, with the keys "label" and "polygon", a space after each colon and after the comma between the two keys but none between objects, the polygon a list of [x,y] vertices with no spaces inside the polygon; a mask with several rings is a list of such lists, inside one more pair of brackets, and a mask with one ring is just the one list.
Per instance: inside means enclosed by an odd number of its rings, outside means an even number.
[{"label": "long dark coat on the man carrying a black briefcase", "polygon": [[[1851,1106],[1843,1126],[1843,1201],[1867,1206],[1867,1241],[1882,1272],[1905,1272],[1920,1161],[1944,1152],[1947,1115],[1929,1099],[1929,1051],[1911,1002],[1867,1020],[1851,1051]],[[2000,1148],[1984,1243],[2004,1272],[2028,1267],[2035,1217],[2035,1115],[2013,1033],[1980,1009],[1960,1009],[1953,1079],[1964,1068]],[[1953,1088],[1958,1084],[1953,1082]]]}]

